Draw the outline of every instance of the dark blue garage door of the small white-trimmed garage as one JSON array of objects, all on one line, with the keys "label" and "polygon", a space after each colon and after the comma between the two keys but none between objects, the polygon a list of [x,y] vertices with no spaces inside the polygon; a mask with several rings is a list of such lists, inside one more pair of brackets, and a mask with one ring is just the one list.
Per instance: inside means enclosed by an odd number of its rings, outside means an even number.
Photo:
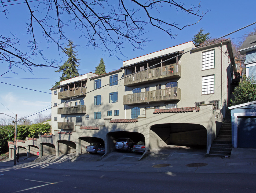
[{"label": "dark blue garage door of the small white-trimmed garage", "polygon": [[237,147],[256,148],[256,117],[238,117]]}]

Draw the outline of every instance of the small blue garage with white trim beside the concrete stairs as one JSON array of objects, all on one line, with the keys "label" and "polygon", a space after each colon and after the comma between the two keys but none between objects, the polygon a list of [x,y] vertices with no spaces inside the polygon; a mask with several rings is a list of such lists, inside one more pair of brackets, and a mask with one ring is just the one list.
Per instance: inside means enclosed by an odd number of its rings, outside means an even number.
[{"label": "small blue garage with white trim beside the concrete stairs", "polygon": [[256,101],[229,107],[233,147],[256,148]]}]

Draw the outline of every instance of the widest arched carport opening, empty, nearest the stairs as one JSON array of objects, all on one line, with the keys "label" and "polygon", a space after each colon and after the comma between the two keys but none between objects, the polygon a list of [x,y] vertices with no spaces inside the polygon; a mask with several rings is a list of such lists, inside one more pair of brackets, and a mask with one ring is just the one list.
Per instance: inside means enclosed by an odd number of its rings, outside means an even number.
[{"label": "widest arched carport opening, empty, nearest the stairs", "polygon": [[207,129],[200,124],[166,123],[150,128],[151,148],[164,145],[205,146]]}]

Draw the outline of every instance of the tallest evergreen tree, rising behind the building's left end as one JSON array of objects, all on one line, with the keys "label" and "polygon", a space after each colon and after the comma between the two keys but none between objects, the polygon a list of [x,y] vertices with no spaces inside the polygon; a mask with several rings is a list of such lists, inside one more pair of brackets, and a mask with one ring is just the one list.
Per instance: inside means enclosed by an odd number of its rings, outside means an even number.
[{"label": "tallest evergreen tree, rising behind the building's left end", "polygon": [[[65,53],[68,56],[68,60],[62,66],[59,66],[60,69],[55,71],[62,72],[62,76],[60,76],[60,81],[79,76],[76,67],[80,66],[78,62],[80,59],[76,58],[77,51],[74,51],[76,45],[74,45],[74,42],[70,40],[67,46],[68,48],[65,47],[65,51],[63,51],[63,53]],[[55,82],[55,85],[53,87],[60,85],[60,81]]]}]

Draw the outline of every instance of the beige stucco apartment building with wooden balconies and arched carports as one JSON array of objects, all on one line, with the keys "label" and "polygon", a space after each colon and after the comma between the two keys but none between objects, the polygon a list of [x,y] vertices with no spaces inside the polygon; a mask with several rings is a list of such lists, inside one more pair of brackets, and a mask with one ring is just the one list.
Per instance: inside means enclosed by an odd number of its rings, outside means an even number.
[{"label": "beige stucco apartment building with wooden balconies and arched carports", "polygon": [[236,84],[235,66],[229,39],[197,48],[187,42],[124,61],[104,75],[62,81],[50,89],[52,135],[18,140],[18,151],[79,155],[101,142],[110,153],[127,137],[145,141],[147,150],[176,144],[209,152]]}]

